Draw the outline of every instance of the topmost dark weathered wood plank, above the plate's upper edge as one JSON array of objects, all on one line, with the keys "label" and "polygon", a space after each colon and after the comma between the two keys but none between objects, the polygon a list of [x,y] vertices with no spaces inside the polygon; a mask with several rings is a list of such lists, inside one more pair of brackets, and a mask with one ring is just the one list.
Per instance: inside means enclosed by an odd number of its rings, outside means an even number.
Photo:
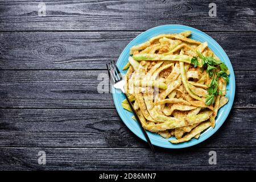
[{"label": "topmost dark weathered wood plank, above the plate's upper edge", "polygon": [[0,30],[147,30],[162,24],[185,24],[200,30],[255,31],[255,1],[41,1],[1,2]]}]

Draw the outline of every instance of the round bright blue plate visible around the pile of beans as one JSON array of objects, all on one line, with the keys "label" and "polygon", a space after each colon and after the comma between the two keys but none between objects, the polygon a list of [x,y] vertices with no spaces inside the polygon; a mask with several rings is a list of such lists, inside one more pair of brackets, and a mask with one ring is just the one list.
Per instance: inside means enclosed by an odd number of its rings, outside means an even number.
[{"label": "round bright blue plate visible around the pile of beans", "polygon": [[[128,61],[130,48],[132,46],[138,45],[140,43],[146,42],[146,40],[152,38],[153,36],[159,35],[159,34],[172,34],[172,33],[180,33],[183,31],[192,31],[191,39],[199,40],[200,42],[208,42],[208,46],[212,51],[227,65],[230,71],[229,76],[229,84],[227,85],[227,94],[226,97],[229,98],[228,104],[223,106],[220,110],[218,110],[218,115],[216,118],[216,125],[214,128],[210,127],[209,129],[205,130],[204,133],[202,133],[199,137],[199,139],[191,139],[188,142],[179,143],[179,144],[172,144],[168,142],[168,139],[162,138],[160,135],[151,133],[150,131],[147,131],[148,137],[150,138],[152,144],[159,147],[164,148],[185,148],[194,146],[195,144],[198,144],[200,142],[203,142],[205,139],[212,136],[224,123],[225,119],[228,117],[228,114],[231,110],[231,107],[233,105],[234,101],[234,95],[235,95],[235,77],[234,77],[234,71],[232,68],[232,64],[230,63],[230,60],[228,56],[226,55],[225,51],[221,48],[221,46],[209,35],[205,34],[204,32],[201,32],[200,30],[197,30],[196,28],[188,27],[188,26],[182,26],[182,25],[176,25],[176,24],[170,24],[170,25],[164,25],[159,26],[155,28],[151,28],[150,30],[147,30],[143,32],[142,34],[138,35],[135,39],[133,39],[123,50],[121,55],[119,56],[119,59],[117,61],[117,66],[120,70],[125,66],[125,64]],[[126,71],[123,71],[122,73],[125,73]],[[118,114],[122,118],[122,121],[125,123],[125,125],[133,131],[135,135],[137,135],[139,138],[146,141],[146,138],[144,137],[139,124],[135,122],[131,116],[133,113],[130,113],[129,111],[123,109],[121,102],[125,99],[125,96],[117,90],[113,89],[113,99],[115,107],[117,108]],[[226,135],[229,135],[229,133],[226,133]],[[170,138],[170,139],[175,139]]]}]

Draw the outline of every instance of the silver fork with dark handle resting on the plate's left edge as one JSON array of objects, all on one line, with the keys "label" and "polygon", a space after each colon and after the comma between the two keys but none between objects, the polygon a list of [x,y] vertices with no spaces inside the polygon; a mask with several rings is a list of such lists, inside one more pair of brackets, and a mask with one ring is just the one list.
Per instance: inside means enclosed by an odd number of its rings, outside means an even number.
[{"label": "silver fork with dark handle resting on the plate's left edge", "polygon": [[137,119],[138,123],[139,123],[139,126],[141,126],[141,130],[144,134],[144,137],[146,138],[151,150],[153,152],[155,152],[155,149],[154,149],[154,146],[152,145],[147,133],[146,133],[146,130],[142,127],[142,123],[141,121],[139,120],[139,117],[138,115],[136,114],[136,112],[134,111],[133,109],[133,105],[131,104],[129,98],[127,97],[126,93],[125,93],[125,89],[124,89],[124,86],[125,86],[125,80],[123,80],[122,78],[122,75],[117,67],[117,65],[114,63],[114,61],[110,62],[109,65],[106,64],[106,67],[108,69],[108,73],[109,73],[109,78],[110,78],[110,81],[112,82],[112,84],[114,84],[114,88],[115,89],[119,89],[122,91],[122,93],[125,95],[126,97],[126,100],[128,101],[130,107],[131,107],[131,110],[133,111],[133,114],[135,116],[135,118]]}]

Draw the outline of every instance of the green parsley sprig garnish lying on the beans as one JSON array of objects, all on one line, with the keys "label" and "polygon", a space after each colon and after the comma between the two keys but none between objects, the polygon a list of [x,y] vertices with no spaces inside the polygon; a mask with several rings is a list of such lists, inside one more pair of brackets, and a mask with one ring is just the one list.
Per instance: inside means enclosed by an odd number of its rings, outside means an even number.
[{"label": "green parsley sprig garnish lying on the beans", "polygon": [[[208,86],[208,94],[205,100],[205,105],[209,106],[214,104],[217,95],[222,95],[222,90],[218,90],[218,78],[221,77],[227,83],[229,82],[229,76],[226,73],[228,67],[226,67],[225,63],[222,63],[222,61],[216,60],[213,57],[205,57],[198,51],[197,55],[202,61],[203,68],[206,68],[209,77],[212,78],[212,81],[210,81],[210,85]],[[195,68],[197,67],[199,64],[197,57],[192,57],[191,64],[193,64]]]}]

